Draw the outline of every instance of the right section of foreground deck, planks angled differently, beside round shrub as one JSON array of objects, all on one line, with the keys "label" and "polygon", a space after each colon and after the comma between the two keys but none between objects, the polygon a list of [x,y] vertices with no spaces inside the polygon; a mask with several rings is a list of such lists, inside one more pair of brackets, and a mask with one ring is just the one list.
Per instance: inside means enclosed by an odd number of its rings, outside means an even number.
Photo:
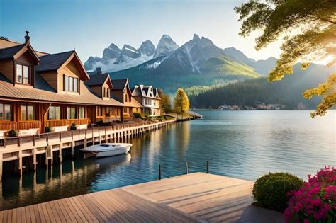
[{"label": "right section of foreground deck, planks angled differently, beside round shrub", "polygon": [[[240,222],[245,209],[251,207],[253,202],[253,184],[252,181],[225,176],[191,173],[162,181],[130,185],[123,190],[206,222]],[[281,213],[269,212],[271,211],[266,210],[255,214],[251,211],[249,215],[260,215],[254,216],[254,219],[259,219],[255,222],[271,222],[274,219],[275,222],[283,221]]]}]

